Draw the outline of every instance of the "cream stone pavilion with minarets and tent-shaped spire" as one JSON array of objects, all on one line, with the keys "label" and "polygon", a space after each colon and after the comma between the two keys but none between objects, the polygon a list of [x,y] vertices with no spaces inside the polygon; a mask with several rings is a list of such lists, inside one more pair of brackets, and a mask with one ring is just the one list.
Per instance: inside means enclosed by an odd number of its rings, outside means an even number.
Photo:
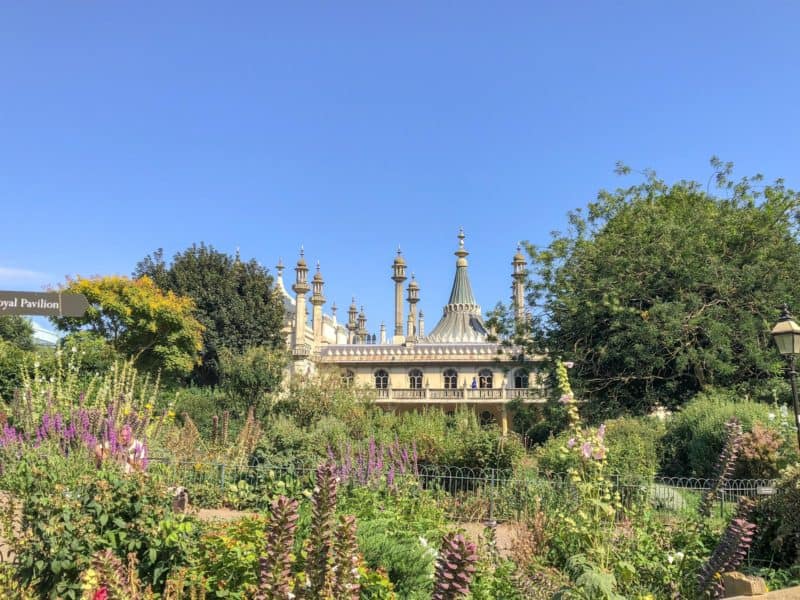
[{"label": "cream stone pavilion with minarets and tent-shaped spire", "polygon": [[[284,333],[292,353],[289,376],[305,376],[321,370],[335,370],[343,381],[354,385],[376,403],[391,410],[413,410],[440,406],[472,407],[482,421],[495,420],[507,431],[512,415],[509,402],[545,401],[539,378],[543,356],[524,356],[520,348],[494,341],[486,330],[469,280],[464,233],[459,232],[455,252],[456,272],[450,298],[442,317],[425,334],[424,315],[417,313],[419,285],[413,275],[406,288],[408,315],[404,322],[403,283],[407,265],[398,250],[392,263],[395,322],[391,333],[381,325],[380,336],[366,328],[364,308],[353,299],[347,320],[337,319],[336,305],[324,314],[324,281],[319,263],[308,283],[308,266],[300,251],[295,266],[292,296],[283,283],[283,265],[277,266],[277,290],[284,302],[287,319]],[[512,260],[512,302],[517,319],[525,319],[525,258],[519,248]],[[306,297],[311,291],[311,297]],[[307,306],[311,306],[311,323]]]}]

